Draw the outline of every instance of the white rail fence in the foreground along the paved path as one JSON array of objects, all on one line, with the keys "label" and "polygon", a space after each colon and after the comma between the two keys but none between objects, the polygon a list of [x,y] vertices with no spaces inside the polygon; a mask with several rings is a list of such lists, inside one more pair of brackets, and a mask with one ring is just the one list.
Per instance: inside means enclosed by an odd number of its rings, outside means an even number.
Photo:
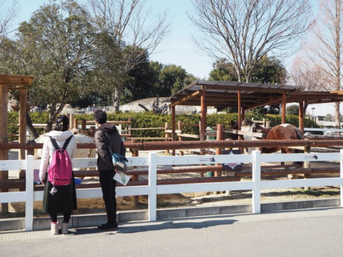
[{"label": "white rail fence in the foreground along the paved path", "polygon": [[[252,154],[240,155],[203,155],[203,156],[157,156],[150,153],[148,157],[128,158],[128,166],[149,166],[148,186],[119,187],[117,196],[149,195],[149,220],[156,220],[157,194],[165,193],[192,193],[210,191],[253,191],[253,212],[260,213],[260,190],[271,188],[316,187],[316,186],[341,186],[341,206],[343,206],[343,150],[340,153],[297,153],[297,154],[261,154],[253,151]],[[266,181],[260,179],[261,162],[293,162],[293,161],[340,161],[341,176],[339,178],[299,179]],[[199,165],[214,163],[252,163],[252,181],[217,182],[199,184],[157,185],[158,165]],[[0,161],[0,171],[25,170],[25,192],[0,193],[0,202],[26,202],[25,204],[25,229],[33,229],[33,201],[43,200],[43,192],[33,191],[33,169],[38,169],[40,160],[27,156],[26,160]],[[74,159],[73,167],[96,167],[95,158]],[[101,189],[78,189],[78,198],[102,197]]]}]

